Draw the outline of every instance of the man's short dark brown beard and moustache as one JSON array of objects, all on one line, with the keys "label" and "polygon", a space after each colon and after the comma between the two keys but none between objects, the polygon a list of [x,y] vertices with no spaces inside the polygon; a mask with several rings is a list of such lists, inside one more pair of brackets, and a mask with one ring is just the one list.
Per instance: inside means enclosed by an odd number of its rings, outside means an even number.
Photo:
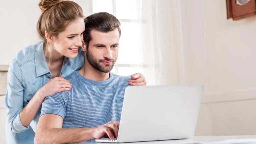
[{"label": "man's short dark brown beard and moustache", "polygon": [[[112,70],[112,68],[114,67],[114,64],[116,62],[115,59],[108,59],[108,58],[105,58],[105,59],[100,59],[100,60],[97,60],[87,49],[87,52],[86,52],[86,57],[87,57],[87,60],[88,62],[98,71],[100,72],[104,72],[104,73],[107,73],[107,72],[110,72]],[[103,61],[111,61],[112,64],[109,64],[109,65],[105,65],[103,64],[102,62]]]}]

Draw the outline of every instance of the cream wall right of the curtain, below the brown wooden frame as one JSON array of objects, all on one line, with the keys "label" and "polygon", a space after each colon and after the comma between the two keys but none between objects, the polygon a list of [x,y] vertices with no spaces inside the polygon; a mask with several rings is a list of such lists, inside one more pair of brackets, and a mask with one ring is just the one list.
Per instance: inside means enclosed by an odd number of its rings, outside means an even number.
[{"label": "cream wall right of the curtain, below the brown wooden frame", "polygon": [[196,135],[256,134],[256,16],[227,20],[224,0],[173,0],[181,84],[204,84]]}]

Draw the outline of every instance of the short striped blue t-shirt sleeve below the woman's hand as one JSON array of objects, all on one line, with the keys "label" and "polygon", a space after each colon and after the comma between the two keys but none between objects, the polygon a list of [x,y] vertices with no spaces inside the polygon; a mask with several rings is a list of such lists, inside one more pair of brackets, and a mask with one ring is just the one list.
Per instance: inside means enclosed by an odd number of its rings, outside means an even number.
[{"label": "short striped blue t-shirt sleeve below the woman's hand", "polygon": [[40,117],[44,114],[55,114],[64,119],[66,116],[68,98],[69,91],[62,91],[45,98],[42,104]]}]

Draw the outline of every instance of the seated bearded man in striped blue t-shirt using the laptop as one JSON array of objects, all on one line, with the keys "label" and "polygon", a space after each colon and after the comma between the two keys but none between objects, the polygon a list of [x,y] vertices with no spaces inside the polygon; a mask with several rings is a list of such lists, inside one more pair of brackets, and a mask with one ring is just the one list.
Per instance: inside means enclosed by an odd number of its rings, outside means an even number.
[{"label": "seated bearded man in striped blue t-shirt using the laptop", "polygon": [[47,97],[35,143],[77,143],[117,138],[127,81],[110,73],[118,56],[120,22],[106,12],[85,19],[84,66],[68,77],[70,91]]}]

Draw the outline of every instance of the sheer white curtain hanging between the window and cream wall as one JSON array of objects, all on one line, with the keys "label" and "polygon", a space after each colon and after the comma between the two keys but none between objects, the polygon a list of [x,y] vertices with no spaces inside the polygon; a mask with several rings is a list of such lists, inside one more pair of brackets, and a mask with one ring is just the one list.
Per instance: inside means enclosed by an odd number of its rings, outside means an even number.
[{"label": "sheer white curtain hanging between the window and cream wall", "polygon": [[139,0],[143,69],[148,85],[182,84],[177,0]]}]

